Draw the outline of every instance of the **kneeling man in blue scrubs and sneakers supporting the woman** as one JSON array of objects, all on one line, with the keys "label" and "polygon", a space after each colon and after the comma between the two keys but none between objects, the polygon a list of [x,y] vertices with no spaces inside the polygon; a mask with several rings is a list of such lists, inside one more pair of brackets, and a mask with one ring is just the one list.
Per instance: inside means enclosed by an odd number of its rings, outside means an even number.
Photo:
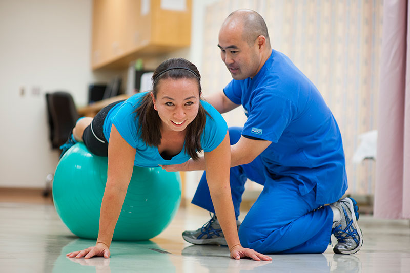
[{"label": "kneeling man in blue scrubs and sneakers supporting the woman", "polygon": [[[322,253],[335,235],[335,253],[356,253],[363,243],[347,189],[338,125],[313,83],[284,54],[272,50],[263,18],[237,10],[219,31],[221,58],[233,80],[207,100],[221,113],[243,106],[243,128],[230,128],[231,190],[236,217],[247,178],[264,185],[242,224],[244,247],[261,253]],[[204,170],[188,161],[166,170]],[[339,201],[338,201],[339,200]],[[192,200],[214,212],[205,176]],[[326,205],[331,204],[331,205]],[[186,231],[194,244],[226,244],[217,215]]]}]

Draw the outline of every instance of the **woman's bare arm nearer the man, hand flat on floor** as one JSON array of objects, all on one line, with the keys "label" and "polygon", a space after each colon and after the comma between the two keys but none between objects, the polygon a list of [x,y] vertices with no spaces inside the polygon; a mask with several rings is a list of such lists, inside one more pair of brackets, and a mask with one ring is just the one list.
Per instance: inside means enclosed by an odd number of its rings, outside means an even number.
[{"label": "woman's bare arm nearer the man, hand flat on floor", "polygon": [[270,257],[257,253],[253,249],[243,248],[240,244],[229,184],[230,149],[229,134],[227,133],[216,149],[204,153],[205,171],[215,213],[218,216],[223,235],[227,240],[231,257],[235,259],[250,257],[257,261],[260,261],[260,259],[269,261],[271,260]]}]

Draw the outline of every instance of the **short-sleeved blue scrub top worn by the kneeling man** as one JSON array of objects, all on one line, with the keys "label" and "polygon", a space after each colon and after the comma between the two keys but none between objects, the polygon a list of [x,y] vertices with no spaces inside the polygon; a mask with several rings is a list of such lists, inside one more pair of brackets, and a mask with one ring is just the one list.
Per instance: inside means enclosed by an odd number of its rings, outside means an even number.
[{"label": "short-sleeved blue scrub top worn by the kneeling man", "polygon": [[272,50],[253,79],[232,80],[223,91],[248,117],[242,135],[272,141],[260,155],[265,174],[294,180],[302,195],[316,186],[318,203],[342,197],[347,178],[338,125],[315,85],[288,57]]}]

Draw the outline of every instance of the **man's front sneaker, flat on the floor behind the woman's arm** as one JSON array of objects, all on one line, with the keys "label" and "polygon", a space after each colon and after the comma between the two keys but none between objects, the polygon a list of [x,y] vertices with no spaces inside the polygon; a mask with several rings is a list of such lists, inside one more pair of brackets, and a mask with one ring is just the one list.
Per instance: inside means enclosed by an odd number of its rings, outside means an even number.
[{"label": "man's front sneaker, flat on the floor behind the woman's arm", "polygon": [[[240,224],[241,222],[236,220],[238,229]],[[228,245],[216,215],[214,215],[211,220],[206,222],[201,228],[183,232],[182,238],[191,244]]]}]

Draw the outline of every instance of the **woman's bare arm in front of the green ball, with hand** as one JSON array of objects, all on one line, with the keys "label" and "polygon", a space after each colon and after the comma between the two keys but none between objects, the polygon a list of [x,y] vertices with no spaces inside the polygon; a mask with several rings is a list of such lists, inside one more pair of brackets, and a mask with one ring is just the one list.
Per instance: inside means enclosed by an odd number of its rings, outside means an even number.
[{"label": "woman's bare arm in front of the green ball, with hand", "polygon": [[97,243],[93,247],[74,251],[67,256],[86,259],[93,256],[110,257],[109,247],[131,180],[135,152],[136,150],[121,137],[113,124],[108,144],[107,184],[101,203]]}]

